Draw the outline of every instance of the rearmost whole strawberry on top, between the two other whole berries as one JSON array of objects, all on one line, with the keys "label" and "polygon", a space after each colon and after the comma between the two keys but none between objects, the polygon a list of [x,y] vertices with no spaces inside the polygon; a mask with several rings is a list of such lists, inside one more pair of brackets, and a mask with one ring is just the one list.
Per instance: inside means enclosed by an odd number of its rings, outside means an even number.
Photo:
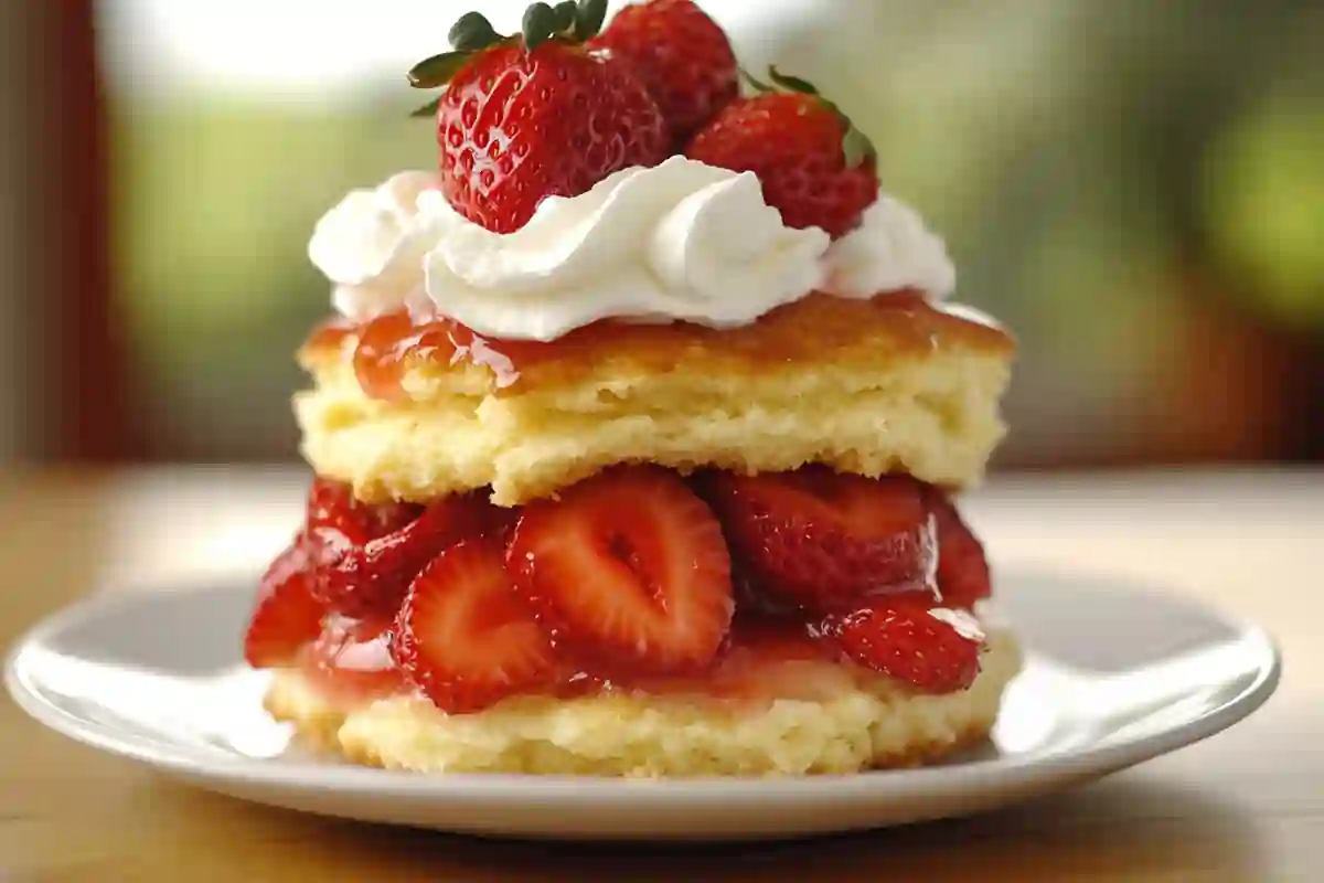
[{"label": "rearmost whole strawberry on top, between the two other whole berries", "polygon": [[677,146],[740,91],[731,41],[694,0],[628,5],[591,45],[630,64],[662,110]]}]

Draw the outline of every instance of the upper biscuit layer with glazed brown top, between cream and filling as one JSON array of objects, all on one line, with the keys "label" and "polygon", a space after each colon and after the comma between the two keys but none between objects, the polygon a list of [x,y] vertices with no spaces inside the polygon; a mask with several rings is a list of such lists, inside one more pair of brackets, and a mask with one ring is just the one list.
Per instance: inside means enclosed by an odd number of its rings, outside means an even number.
[{"label": "upper biscuit layer with glazed brown top, between cream and filling", "polygon": [[1002,437],[1013,351],[985,316],[910,294],[816,294],[727,331],[604,323],[551,344],[396,316],[314,335],[299,359],[316,387],[297,412],[314,469],[365,500],[490,486],[514,506],[621,462],[821,462],[965,486]]}]

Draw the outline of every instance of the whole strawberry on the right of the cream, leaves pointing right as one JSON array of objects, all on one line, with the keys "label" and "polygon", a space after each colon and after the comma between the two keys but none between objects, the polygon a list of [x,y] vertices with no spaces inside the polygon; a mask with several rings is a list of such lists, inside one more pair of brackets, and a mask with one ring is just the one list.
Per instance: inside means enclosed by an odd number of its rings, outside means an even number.
[{"label": "whole strawberry on the right of the cream, leaves pointing right", "polygon": [[760,94],[728,105],[685,155],[757,175],[764,200],[786,226],[845,236],[878,199],[874,148],[810,83],[769,73],[786,91],[751,79]]}]

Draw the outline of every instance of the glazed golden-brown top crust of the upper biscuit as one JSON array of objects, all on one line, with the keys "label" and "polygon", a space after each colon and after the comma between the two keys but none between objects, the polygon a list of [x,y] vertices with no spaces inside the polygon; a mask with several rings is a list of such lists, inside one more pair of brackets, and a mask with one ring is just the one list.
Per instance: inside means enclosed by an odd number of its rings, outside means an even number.
[{"label": "glazed golden-brown top crust of the upper biscuit", "polygon": [[298,360],[324,373],[367,335],[375,338],[377,359],[363,359],[360,368],[399,361],[413,380],[404,395],[416,401],[545,393],[670,372],[740,379],[825,363],[886,371],[943,351],[1006,360],[1016,348],[1005,328],[963,304],[932,303],[914,291],[873,301],[814,293],[737,328],[600,322],[551,343],[490,340],[445,320],[414,326],[404,315],[369,326],[331,323],[306,342]]}]

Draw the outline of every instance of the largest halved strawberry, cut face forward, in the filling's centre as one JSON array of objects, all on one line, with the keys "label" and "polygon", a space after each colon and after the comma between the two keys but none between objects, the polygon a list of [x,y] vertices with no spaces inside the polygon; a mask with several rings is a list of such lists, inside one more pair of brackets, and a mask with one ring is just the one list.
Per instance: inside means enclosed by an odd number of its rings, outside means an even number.
[{"label": "largest halved strawberry, cut face forward, in the filling's centre", "polygon": [[731,625],[722,528],[665,469],[614,469],[527,506],[508,563],[557,645],[608,673],[702,669]]}]

